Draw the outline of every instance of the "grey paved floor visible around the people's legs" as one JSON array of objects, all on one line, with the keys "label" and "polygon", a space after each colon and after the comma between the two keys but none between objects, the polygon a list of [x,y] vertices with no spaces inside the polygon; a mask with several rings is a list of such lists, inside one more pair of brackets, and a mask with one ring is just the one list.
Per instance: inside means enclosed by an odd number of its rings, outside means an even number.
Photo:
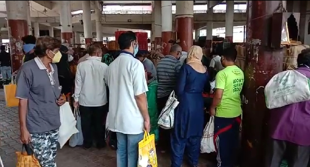
[{"label": "grey paved floor visible around the people's legs", "polygon": [[[21,149],[17,108],[5,106],[2,90],[0,90],[0,138],[0,155],[4,166],[15,167],[15,152]],[[157,156],[159,167],[170,166],[168,154],[157,152]],[[207,166],[207,157],[210,158],[209,155],[201,155],[200,167]],[[109,148],[84,150],[80,147],[64,146],[64,148],[58,149],[56,159],[59,167],[116,167],[116,152]]]}]

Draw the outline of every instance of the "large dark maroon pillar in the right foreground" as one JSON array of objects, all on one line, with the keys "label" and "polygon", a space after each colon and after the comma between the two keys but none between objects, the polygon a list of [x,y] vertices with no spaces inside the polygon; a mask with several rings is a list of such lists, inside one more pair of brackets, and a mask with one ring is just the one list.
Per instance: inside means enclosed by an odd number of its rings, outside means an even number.
[{"label": "large dark maroon pillar in the right foreground", "polygon": [[247,1],[241,167],[265,166],[270,111],[265,104],[264,86],[282,71],[283,63],[282,49],[271,48],[266,34],[274,33],[269,19],[280,3]]}]

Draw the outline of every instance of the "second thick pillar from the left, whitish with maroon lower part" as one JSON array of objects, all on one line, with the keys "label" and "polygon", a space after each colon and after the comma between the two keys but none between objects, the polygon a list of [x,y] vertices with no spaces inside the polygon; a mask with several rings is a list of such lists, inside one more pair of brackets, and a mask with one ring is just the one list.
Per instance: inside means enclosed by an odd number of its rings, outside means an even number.
[{"label": "second thick pillar from the left, whitish with maroon lower part", "polygon": [[60,2],[61,42],[72,44],[71,1]]}]

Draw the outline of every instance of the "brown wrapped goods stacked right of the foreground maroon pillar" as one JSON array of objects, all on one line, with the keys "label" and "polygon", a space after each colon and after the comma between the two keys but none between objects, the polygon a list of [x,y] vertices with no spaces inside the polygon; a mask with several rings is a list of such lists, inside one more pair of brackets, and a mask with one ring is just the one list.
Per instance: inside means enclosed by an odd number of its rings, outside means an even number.
[{"label": "brown wrapped goods stacked right of the foreground maroon pillar", "polygon": [[297,56],[303,50],[309,48],[309,45],[302,45],[301,42],[291,42],[284,50],[283,70],[297,68]]}]

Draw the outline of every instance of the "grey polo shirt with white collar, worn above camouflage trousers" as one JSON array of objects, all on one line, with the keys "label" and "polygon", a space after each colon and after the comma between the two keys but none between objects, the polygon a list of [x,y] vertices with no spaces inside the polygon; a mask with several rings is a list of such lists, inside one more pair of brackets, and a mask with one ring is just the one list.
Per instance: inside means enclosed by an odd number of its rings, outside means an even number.
[{"label": "grey polo shirt with white collar, worn above camouflage trousers", "polygon": [[42,133],[60,127],[60,97],[57,66],[51,64],[49,73],[36,57],[24,63],[16,77],[16,98],[28,99],[26,126],[29,133]]}]

